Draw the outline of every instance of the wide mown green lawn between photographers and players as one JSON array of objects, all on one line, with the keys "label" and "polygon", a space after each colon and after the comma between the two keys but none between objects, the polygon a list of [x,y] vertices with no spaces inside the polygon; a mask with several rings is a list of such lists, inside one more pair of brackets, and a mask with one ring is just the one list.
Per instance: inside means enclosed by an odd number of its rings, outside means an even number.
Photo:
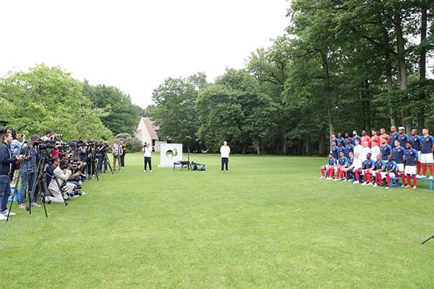
[{"label": "wide mown green lawn between photographers and players", "polygon": [[318,179],[326,158],[141,154],[0,223],[1,288],[432,288],[434,191]]}]

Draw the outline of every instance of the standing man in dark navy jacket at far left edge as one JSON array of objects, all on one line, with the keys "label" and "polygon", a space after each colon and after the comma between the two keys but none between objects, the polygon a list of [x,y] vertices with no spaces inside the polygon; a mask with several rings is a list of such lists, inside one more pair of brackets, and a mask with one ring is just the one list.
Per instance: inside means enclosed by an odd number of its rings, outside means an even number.
[{"label": "standing man in dark navy jacket at far left edge", "polygon": [[[6,209],[8,205],[8,198],[10,195],[10,172],[12,171],[12,166],[15,165],[16,161],[22,161],[22,156],[18,155],[16,157],[12,156],[10,151],[10,143],[12,142],[12,133],[6,131],[3,133],[3,143],[0,148],[0,220],[6,220],[9,212]],[[10,213],[10,215],[15,215]]]}]

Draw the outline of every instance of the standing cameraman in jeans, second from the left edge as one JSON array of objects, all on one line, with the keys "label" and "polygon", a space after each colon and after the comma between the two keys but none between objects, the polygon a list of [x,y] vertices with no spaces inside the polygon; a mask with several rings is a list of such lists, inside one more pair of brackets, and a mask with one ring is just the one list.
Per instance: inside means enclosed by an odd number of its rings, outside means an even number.
[{"label": "standing cameraman in jeans, second from the left edge", "polygon": [[32,135],[30,144],[24,143],[22,145],[20,154],[24,156],[21,164],[21,187],[20,187],[20,199],[18,200],[18,209],[26,209],[25,198],[26,191],[33,193],[30,196],[30,205],[32,207],[41,207],[36,203],[35,192],[31,192],[36,181],[36,175],[38,174],[38,142],[41,140],[40,135]]}]

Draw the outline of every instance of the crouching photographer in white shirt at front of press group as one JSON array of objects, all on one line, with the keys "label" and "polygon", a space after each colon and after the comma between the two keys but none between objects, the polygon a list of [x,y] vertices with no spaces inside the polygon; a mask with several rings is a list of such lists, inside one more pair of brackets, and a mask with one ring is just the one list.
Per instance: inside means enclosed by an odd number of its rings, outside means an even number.
[{"label": "crouching photographer in white shirt at front of press group", "polygon": [[64,202],[64,200],[68,200],[75,185],[69,184],[67,181],[71,176],[78,177],[78,175],[80,175],[80,172],[73,174],[71,170],[68,170],[67,160],[61,160],[59,166],[53,171],[53,176],[48,186],[48,190],[52,196],[48,196],[46,200],[48,202]]}]

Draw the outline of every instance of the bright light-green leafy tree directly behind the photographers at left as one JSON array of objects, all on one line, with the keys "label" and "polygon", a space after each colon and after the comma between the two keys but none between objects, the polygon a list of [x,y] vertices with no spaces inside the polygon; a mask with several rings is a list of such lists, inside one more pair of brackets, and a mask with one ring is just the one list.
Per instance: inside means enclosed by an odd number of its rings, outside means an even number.
[{"label": "bright light-green leafy tree directly behind the photographers at left", "polygon": [[58,67],[40,64],[28,73],[10,73],[0,80],[0,102],[9,126],[22,133],[52,128],[64,139],[106,140],[112,135],[100,119],[105,112],[82,94],[82,83]]}]

